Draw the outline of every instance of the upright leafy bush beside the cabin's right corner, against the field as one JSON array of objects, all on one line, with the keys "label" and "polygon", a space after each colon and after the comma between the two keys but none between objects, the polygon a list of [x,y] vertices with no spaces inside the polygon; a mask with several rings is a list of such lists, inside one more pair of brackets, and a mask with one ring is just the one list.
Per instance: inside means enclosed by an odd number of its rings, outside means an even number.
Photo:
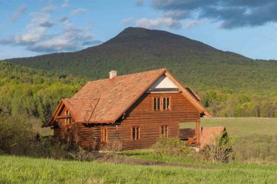
[{"label": "upright leafy bush beside the cabin's right corner, against the field", "polygon": [[233,156],[233,145],[235,140],[224,131],[220,136],[215,137],[211,144],[205,145],[202,154],[207,160],[228,163]]}]

